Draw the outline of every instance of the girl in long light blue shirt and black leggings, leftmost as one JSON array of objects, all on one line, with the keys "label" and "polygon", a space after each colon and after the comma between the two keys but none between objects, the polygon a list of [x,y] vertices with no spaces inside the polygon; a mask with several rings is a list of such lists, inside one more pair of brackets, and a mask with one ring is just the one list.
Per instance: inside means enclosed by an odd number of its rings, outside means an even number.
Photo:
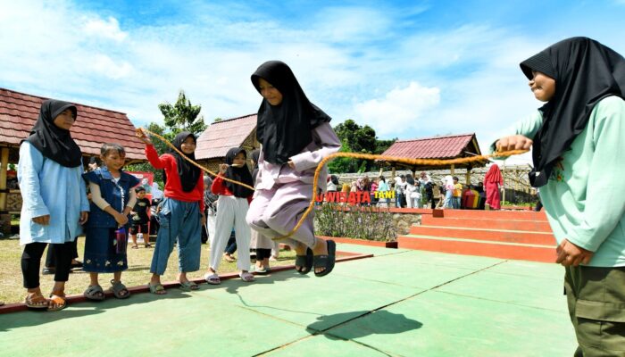
[{"label": "girl in long light blue shirt and black leggings, leftmost", "polygon": [[[28,290],[26,305],[62,310],[71,265],[71,242],[87,221],[89,203],[82,180],[82,154],[71,138],[74,105],[46,100],[30,136],[21,143],[18,179],[23,200],[20,217],[21,271]],[[46,249],[54,249],[56,272],[50,299],[39,288],[39,266]]]}]

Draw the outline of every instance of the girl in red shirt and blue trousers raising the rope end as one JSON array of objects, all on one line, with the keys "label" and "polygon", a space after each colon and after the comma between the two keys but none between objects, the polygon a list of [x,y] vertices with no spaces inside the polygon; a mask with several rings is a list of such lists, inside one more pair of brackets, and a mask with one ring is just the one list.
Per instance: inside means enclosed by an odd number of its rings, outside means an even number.
[{"label": "girl in red shirt and blue trousers raising the rope end", "polygon": [[[201,229],[206,221],[202,171],[175,151],[159,157],[143,129],[137,130],[137,137],[146,143],[147,160],[154,169],[164,170],[166,179],[165,198],[158,213],[161,227],[152,256],[152,278],[148,287],[153,294],[167,294],[161,284],[161,276],[167,269],[173,245],[178,241],[180,287],[197,290],[199,286],[187,278],[187,272],[200,269]],[[192,133],[179,133],[172,144],[187,158],[196,160],[196,137]]]}]

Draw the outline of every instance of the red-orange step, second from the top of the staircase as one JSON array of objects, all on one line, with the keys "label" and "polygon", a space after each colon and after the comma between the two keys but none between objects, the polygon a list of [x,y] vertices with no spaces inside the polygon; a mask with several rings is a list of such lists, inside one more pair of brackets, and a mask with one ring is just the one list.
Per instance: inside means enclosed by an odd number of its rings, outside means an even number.
[{"label": "red-orange step, second from the top of the staircase", "polygon": [[422,215],[421,225],[552,232],[549,222],[542,220],[478,220],[473,218],[436,218],[430,215]]}]

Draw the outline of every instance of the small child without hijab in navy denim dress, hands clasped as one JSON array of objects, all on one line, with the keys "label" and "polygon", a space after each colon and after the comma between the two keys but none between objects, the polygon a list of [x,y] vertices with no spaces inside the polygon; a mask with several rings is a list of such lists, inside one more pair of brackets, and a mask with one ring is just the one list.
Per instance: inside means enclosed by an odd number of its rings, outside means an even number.
[{"label": "small child without hijab in navy denim dress, hands clasped", "polygon": [[123,146],[102,145],[100,158],[102,167],[82,175],[91,191],[91,216],[87,220],[83,266],[91,282],[84,295],[89,300],[104,300],[98,274],[113,273],[112,293],[118,299],[125,299],[130,293],[121,283],[121,271],[128,269],[128,242],[117,240],[115,235],[118,228],[125,231],[129,228],[128,215],[137,202],[132,187],[137,186],[139,180],[121,170],[126,163]]}]

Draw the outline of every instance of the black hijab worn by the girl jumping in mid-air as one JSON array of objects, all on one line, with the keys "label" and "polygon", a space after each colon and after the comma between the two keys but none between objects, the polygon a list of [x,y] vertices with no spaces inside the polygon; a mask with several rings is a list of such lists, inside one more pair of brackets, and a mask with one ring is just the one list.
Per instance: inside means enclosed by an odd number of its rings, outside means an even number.
[{"label": "black hijab worn by the girl jumping in mid-air", "polygon": [[279,90],[282,103],[273,106],[262,99],[258,108],[256,137],[262,144],[264,160],[283,164],[311,143],[312,129],[331,118],[308,100],[286,63],[269,61],[258,67],[252,75],[252,83],[258,93],[261,93],[258,84],[261,78]]}]

